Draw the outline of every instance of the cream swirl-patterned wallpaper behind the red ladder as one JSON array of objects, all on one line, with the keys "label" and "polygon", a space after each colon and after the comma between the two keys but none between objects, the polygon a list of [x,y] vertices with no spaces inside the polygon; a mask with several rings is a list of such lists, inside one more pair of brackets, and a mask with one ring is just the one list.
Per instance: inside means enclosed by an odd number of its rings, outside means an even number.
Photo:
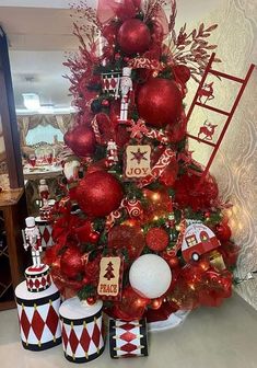
[{"label": "cream swirl-patterned wallpaper behind the red ladder", "polygon": [[[249,65],[257,64],[257,1],[224,0],[210,13],[206,24],[218,23],[211,42],[218,44],[217,55],[222,59],[215,69],[245,78]],[[194,25],[194,24],[192,24]],[[217,80],[212,104],[230,110],[236,84]],[[248,272],[257,269],[257,69],[252,74],[240,106],[229,127],[221,149],[211,166],[220,192],[234,206],[229,210],[230,226],[234,241],[242,246],[237,276],[245,278]],[[196,85],[188,85],[194,96]],[[194,119],[205,122],[205,113],[197,112]],[[212,117],[215,118],[214,116]],[[194,128],[194,127],[192,127]],[[199,143],[197,143],[199,145]],[[197,149],[197,159],[206,162],[208,152]],[[257,309],[257,277],[245,280],[236,287],[237,292]]]}]

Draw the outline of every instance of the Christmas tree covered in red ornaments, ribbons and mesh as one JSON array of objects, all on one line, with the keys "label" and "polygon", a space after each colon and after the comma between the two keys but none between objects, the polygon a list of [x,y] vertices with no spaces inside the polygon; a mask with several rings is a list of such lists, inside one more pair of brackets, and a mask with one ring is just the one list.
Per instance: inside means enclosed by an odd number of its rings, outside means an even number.
[{"label": "Christmas tree covered in red ornaments, ribbons and mesh", "polygon": [[[80,48],[65,62],[78,108],[65,135],[73,156],[45,257],[55,283],[66,298],[106,300],[106,312],[127,321],[219,306],[238,246],[215,180],[191,158],[183,103],[217,25],[177,34],[174,0],[100,1],[97,11],[82,2],[73,16]],[[119,285],[102,290],[115,299],[98,292],[104,257]]]}]

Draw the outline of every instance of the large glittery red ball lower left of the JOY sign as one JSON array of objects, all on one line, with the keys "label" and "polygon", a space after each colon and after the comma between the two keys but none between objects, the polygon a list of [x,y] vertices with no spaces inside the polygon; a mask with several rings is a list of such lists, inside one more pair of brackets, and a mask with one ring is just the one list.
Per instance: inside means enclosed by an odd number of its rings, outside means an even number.
[{"label": "large glittery red ball lower left of the JOY sign", "polygon": [[124,197],[122,187],[112,174],[95,171],[86,174],[77,187],[77,200],[89,216],[104,217],[118,208]]}]

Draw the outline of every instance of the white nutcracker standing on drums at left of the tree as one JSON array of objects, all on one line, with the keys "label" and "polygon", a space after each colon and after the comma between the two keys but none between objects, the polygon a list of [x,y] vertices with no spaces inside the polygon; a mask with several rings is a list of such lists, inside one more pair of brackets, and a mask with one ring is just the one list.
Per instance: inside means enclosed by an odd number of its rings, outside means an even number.
[{"label": "white nutcracker standing on drums at left of the tree", "polygon": [[26,228],[22,230],[23,234],[23,246],[25,251],[31,246],[32,252],[32,261],[33,261],[33,268],[40,268],[40,252],[42,252],[42,242],[40,242],[40,233],[35,225],[34,217],[27,217],[25,219]]}]

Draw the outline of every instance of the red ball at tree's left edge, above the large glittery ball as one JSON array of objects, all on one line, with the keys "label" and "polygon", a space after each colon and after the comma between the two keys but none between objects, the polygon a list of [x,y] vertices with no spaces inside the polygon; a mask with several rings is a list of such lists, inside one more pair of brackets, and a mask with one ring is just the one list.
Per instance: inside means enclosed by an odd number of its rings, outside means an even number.
[{"label": "red ball at tree's left edge, above the large glittery ball", "polygon": [[79,157],[91,156],[95,151],[95,135],[89,126],[75,126],[65,134],[63,140]]}]

